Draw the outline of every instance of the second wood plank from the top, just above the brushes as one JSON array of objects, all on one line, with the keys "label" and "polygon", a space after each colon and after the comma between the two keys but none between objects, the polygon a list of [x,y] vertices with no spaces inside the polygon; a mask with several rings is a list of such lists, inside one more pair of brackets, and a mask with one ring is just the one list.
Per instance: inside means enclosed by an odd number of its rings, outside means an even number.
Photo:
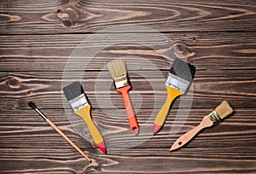
[{"label": "second wood plank from the top, just above the brushes", "polygon": [[[170,69],[173,53],[177,49],[170,48],[170,42],[184,47],[183,55],[195,53],[189,61],[198,69],[204,71],[219,69],[253,69],[256,59],[256,34],[254,32],[195,32],[195,33],[166,33],[166,39],[158,38],[158,33],[140,35],[137,40],[148,43],[154,49],[139,44],[132,44],[131,35],[108,38],[108,41],[95,40],[85,49],[102,48],[95,57],[91,58],[86,51],[83,55],[68,58],[78,45],[92,35],[42,35],[42,36],[2,36],[0,43],[0,68],[2,71],[44,71],[63,72],[65,66],[73,71],[84,71],[80,64],[90,61],[86,71],[100,71],[112,59],[125,57],[137,65],[137,57],[152,62],[155,67],[143,69]],[[105,44],[113,44],[108,47]],[[106,48],[107,47],[107,48]],[[132,51],[131,51],[132,50]],[[177,55],[176,55],[177,56]],[[179,56],[179,55],[178,55]],[[90,59],[91,58],[91,59]],[[244,63],[246,63],[244,65]],[[218,73],[218,72],[217,72]]]}]

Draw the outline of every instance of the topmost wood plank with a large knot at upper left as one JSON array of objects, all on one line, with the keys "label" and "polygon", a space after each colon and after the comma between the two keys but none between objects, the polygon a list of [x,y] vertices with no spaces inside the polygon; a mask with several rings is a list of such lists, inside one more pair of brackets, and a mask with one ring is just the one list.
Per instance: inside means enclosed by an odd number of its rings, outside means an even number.
[{"label": "topmost wood plank with a large knot at upper left", "polygon": [[254,1],[2,1],[1,34],[96,32],[133,24],[159,32],[255,32]]}]

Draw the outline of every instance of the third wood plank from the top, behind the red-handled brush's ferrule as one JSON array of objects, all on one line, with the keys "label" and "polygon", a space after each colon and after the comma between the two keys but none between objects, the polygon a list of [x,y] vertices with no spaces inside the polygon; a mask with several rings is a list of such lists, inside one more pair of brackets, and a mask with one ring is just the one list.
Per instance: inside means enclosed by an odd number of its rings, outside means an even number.
[{"label": "third wood plank from the top, behind the red-handled brush's ferrule", "polygon": [[[243,64],[244,66],[244,64]],[[216,72],[218,71],[218,72]],[[148,72],[149,74],[151,72]],[[148,76],[147,79],[131,71],[130,78],[133,90],[131,90],[131,101],[134,107],[139,108],[160,108],[166,100],[166,89],[164,87],[165,75]],[[94,108],[123,108],[122,97],[114,91],[112,79],[108,72],[97,79],[98,73],[85,73],[82,83],[84,90]],[[179,106],[179,100],[192,102],[192,107],[212,107],[218,105],[220,100],[229,100],[234,107],[253,108],[256,96],[253,93],[255,86],[255,70],[199,70],[196,73],[193,91],[190,90],[186,96],[177,99],[173,107]],[[2,73],[0,76],[1,89],[0,98],[3,101],[3,108],[27,108],[26,102],[30,100],[40,103],[45,108],[68,107],[65,96],[61,91],[61,84],[70,84],[78,78],[70,77],[63,81],[62,73]],[[96,89],[96,83],[102,83]],[[152,86],[154,84],[154,86]],[[106,86],[106,87],[104,87]],[[108,87],[109,86],[109,87]],[[246,91],[246,92],[245,92]],[[47,100],[45,100],[47,98]],[[211,99],[211,100],[209,100]],[[110,100],[110,101],[109,101]],[[110,102],[109,105],[101,103]],[[99,106],[99,104],[101,104]]]}]

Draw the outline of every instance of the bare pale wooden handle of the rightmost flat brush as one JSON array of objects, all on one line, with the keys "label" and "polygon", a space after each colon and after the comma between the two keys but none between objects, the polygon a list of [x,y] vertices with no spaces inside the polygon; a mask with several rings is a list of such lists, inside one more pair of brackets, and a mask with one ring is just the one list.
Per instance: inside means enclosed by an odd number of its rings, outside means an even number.
[{"label": "bare pale wooden handle of the rightmost flat brush", "polygon": [[197,125],[193,130],[188,131],[187,133],[185,133],[183,136],[180,136],[176,142],[173,143],[172,148],[170,149],[170,151],[172,150],[176,150],[177,148],[181,148],[183,147],[186,143],[188,143],[193,137],[195,137],[200,131],[202,131],[203,129],[212,126],[212,120],[209,119],[208,115],[205,116],[200,125]]}]

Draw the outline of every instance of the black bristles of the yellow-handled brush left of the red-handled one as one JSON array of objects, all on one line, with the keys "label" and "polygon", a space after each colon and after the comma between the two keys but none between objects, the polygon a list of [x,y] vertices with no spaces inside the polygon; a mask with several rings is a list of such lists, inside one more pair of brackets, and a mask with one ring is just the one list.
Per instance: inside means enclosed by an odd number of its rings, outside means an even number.
[{"label": "black bristles of the yellow-handled brush left of the red-handled one", "polygon": [[68,101],[73,100],[75,97],[80,96],[84,93],[83,86],[79,82],[73,82],[63,88],[64,95]]}]

